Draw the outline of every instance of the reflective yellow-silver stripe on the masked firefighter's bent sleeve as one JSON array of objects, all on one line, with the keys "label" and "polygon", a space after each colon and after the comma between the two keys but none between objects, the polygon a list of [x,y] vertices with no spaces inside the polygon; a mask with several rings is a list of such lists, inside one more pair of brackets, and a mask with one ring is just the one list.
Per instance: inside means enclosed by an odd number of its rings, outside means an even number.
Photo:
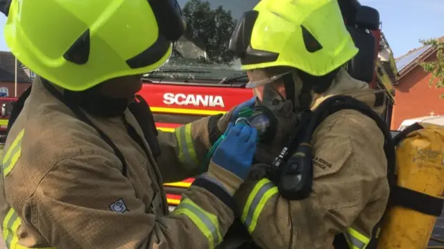
[{"label": "reflective yellow-silver stripe on the masked firefighter's bent sleeve", "polygon": [[255,231],[257,218],[259,218],[262,209],[264,209],[271,196],[275,194],[278,194],[278,187],[266,178],[257,182],[251,191],[241,216],[241,221],[246,225],[250,234]]}]

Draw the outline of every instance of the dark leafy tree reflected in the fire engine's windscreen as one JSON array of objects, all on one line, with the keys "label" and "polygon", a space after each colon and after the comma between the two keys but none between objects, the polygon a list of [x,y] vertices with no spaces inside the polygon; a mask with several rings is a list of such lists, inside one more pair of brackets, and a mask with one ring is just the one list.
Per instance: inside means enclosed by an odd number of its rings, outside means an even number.
[{"label": "dark leafy tree reflected in the fire engine's windscreen", "polygon": [[191,35],[193,42],[203,45],[212,62],[230,63],[234,60],[228,44],[237,20],[230,10],[222,6],[212,10],[208,1],[190,0],[182,12],[187,22],[187,34]]}]

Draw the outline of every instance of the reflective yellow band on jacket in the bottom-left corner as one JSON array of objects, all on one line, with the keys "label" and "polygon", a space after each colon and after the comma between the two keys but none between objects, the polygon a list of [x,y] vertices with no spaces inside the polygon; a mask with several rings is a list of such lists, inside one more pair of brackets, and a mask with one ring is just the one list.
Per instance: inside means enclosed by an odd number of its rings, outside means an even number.
[{"label": "reflective yellow band on jacket in the bottom-left corner", "polygon": [[[8,214],[6,214],[3,220],[3,239],[6,242],[6,248],[8,249],[28,249],[25,246],[19,245],[19,237],[17,235],[17,229],[22,225],[17,212],[10,208]],[[56,248],[40,248],[40,249],[56,249]]]}]

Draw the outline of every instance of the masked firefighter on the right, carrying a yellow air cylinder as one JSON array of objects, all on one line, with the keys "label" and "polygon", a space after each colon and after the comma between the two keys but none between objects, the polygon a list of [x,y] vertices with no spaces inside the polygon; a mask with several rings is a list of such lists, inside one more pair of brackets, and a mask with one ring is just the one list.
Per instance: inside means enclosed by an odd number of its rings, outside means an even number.
[{"label": "masked firefighter on the right, carrying a yellow air cylinder", "polygon": [[[335,0],[262,0],[239,19],[230,48],[248,73],[257,105],[278,120],[274,139],[257,148],[259,163],[272,164],[303,111],[331,96],[353,96],[379,114],[384,110],[384,98],[376,99],[375,90],[344,69],[358,49]],[[345,247],[339,248],[365,248],[388,201],[383,147],[373,119],[355,110],[331,114],[311,139],[309,197],[282,198],[267,175],[249,179],[236,194],[241,222],[261,248],[336,248],[341,240],[334,238],[341,235]]]}]

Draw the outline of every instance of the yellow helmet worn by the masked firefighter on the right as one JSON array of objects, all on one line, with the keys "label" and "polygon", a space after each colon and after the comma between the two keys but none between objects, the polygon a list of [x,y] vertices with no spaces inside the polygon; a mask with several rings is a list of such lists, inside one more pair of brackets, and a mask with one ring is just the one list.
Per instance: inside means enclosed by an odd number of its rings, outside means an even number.
[{"label": "yellow helmet worn by the masked firefighter on the right", "polygon": [[245,70],[287,66],[325,76],[358,52],[336,0],[262,0],[245,12],[230,50]]}]

